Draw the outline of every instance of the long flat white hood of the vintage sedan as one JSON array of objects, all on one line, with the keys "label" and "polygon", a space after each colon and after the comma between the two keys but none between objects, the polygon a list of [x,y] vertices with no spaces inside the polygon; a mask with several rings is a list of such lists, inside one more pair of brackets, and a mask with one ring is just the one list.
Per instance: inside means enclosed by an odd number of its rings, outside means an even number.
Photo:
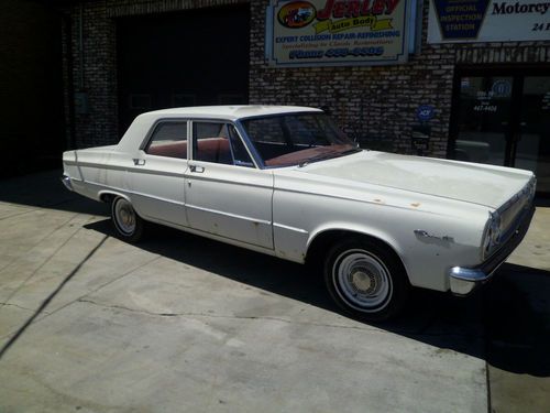
[{"label": "long flat white hood of the vintage sedan", "polygon": [[300,172],[498,208],[531,172],[440,159],[363,151],[308,164]]}]

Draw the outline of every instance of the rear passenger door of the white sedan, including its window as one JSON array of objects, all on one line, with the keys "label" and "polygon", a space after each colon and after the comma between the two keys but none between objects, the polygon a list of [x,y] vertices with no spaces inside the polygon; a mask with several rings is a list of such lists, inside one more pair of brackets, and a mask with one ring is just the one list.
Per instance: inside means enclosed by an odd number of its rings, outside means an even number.
[{"label": "rear passenger door of the white sedan, including its window", "polygon": [[143,218],[188,226],[184,178],[187,170],[187,122],[161,121],[151,139],[133,154],[129,170],[132,204]]}]

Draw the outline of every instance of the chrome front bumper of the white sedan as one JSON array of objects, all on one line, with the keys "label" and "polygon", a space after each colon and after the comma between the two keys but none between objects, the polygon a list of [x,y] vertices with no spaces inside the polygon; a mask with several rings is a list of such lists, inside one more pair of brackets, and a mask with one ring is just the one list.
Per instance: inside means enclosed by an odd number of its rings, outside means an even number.
[{"label": "chrome front bumper of the white sedan", "polygon": [[529,224],[531,224],[534,214],[535,207],[531,206],[524,213],[519,225],[516,227],[516,230],[508,239],[508,241],[482,264],[474,268],[451,268],[448,274],[451,292],[457,295],[468,295],[477,285],[487,282],[498,269],[498,267],[501,267],[503,262],[506,261],[509,254],[514,252],[517,246],[521,242],[525,235],[527,233],[527,230],[529,229]]}]

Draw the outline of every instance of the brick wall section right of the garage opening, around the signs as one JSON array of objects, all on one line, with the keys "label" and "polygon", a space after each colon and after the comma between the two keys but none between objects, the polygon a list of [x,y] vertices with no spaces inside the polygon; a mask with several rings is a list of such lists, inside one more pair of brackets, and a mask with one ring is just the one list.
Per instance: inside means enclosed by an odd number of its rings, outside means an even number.
[{"label": "brick wall section right of the garage opening, around the signs", "polygon": [[[267,0],[252,2],[260,15]],[[264,57],[264,20],[251,29],[251,104],[327,106],[340,126],[376,145],[410,153],[416,109],[431,105],[430,154],[444,157],[454,68],[460,65],[550,62],[550,43],[427,44],[428,0],[425,0],[421,50],[405,65],[273,68]],[[381,142],[382,141],[382,142]]]}]

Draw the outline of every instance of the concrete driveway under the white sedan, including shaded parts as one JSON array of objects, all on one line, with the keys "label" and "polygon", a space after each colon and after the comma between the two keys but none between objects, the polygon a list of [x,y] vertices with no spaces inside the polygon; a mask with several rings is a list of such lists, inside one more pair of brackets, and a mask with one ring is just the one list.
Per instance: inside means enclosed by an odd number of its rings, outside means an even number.
[{"label": "concrete driveway under the white sedan, including shaded parts", "polygon": [[550,209],[481,293],[369,325],[300,265],[121,242],[58,175],[0,182],[0,412],[550,410]]}]

